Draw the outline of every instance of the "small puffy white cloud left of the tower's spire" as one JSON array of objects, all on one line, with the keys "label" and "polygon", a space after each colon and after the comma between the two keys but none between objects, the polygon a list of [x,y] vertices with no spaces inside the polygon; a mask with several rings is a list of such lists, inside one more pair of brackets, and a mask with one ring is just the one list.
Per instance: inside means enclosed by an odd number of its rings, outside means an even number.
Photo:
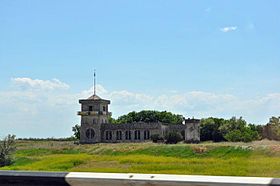
[{"label": "small puffy white cloud left of the tower's spire", "polygon": [[61,82],[58,79],[52,80],[40,80],[31,78],[13,78],[12,81],[16,86],[21,88],[33,88],[33,89],[43,89],[43,90],[55,90],[55,89],[68,89],[69,85]]}]

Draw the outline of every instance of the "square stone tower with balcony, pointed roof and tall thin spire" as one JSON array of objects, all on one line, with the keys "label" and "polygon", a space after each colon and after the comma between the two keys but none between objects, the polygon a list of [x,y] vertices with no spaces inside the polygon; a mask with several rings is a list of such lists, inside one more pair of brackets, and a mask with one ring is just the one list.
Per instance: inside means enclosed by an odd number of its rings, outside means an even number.
[{"label": "square stone tower with balcony, pointed roof and tall thin spire", "polygon": [[94,94],[88,99],[81,99],[80,143],[101,142],[101,124],[109,123],[111,112],[108,111],[109,100],[101,99],[96,95],[94,73]]}]

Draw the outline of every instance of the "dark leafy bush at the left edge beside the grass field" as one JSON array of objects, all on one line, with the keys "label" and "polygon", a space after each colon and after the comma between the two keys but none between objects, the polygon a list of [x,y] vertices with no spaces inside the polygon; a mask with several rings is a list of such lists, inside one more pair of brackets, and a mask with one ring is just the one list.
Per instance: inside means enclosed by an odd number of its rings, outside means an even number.
[{"label": "dark leafy bush at the left edge beside the grass field", "polygon": [[15,135],[8,135],[0,141],[0,167],[12,163],[12,153],[15,151]]}]

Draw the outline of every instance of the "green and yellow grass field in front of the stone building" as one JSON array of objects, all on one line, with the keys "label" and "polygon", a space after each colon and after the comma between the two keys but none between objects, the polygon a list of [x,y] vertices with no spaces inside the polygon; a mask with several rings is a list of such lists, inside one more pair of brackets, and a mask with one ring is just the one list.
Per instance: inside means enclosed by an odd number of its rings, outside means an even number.
[{"label": "green and yellow grass field in front of the stone building", "polygon": [[0,169],[280,177],[280,143],[18,141],[13,165]]}]

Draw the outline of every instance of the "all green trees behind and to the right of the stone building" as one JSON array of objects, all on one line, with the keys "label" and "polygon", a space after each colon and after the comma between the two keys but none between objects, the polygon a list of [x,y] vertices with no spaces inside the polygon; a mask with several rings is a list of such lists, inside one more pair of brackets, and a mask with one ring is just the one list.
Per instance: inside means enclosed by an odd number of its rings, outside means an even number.
[{"label": "all green trees behind and to the right of the stone building", "polygon": [[[133,122],[162,122],[166,124],[180,124],[183,122],[182,115],[167,111],[143,110],[130,112],[117,119],[110,119],[111,123],[133,123]],[[230,141],[251,142],[263,138],[280,140],[280,117],[272,117],[267,125],[256,125],[247,123],[242,117],[204,118],[200,125],[201,141]]]}]

